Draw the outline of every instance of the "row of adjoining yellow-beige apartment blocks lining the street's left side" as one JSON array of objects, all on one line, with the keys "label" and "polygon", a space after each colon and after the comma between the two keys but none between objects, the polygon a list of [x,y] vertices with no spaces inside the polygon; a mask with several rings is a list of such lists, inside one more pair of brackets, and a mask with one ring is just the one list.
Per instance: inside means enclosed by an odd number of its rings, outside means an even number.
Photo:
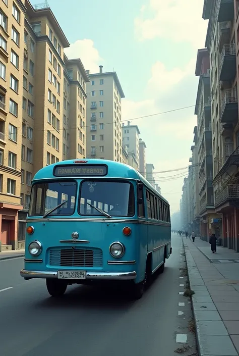
[{"label": "row of adjoining yellow-beige apartment blocks lining the street's left side", "polygon": [[0,8],[0,252],[21,248],[35,172],[85,157],[86,82],[45,2]]}]

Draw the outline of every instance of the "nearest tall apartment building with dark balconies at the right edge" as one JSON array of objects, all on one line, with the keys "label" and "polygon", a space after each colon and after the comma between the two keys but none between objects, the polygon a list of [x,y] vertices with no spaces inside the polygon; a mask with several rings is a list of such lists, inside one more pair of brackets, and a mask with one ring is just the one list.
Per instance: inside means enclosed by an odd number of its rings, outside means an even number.
[{"label": "nearest tall apartment building with dark balconies at the right edge", "polygon": [[[238,0],[204,1],[203,18],[209,20],[214,206],[218,219],[222,215],[222,245],[239,251],[237,12]],[[220,220],[217,223],[219,229]]]}]

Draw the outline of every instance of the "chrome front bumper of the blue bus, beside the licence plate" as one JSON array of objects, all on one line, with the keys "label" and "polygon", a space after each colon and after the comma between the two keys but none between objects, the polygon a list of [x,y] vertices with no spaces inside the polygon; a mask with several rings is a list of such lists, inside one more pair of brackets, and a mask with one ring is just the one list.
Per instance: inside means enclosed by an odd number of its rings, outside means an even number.
[{"label": "chrome front bumper of the blue bus, beside the licence plate", "polygon": [[[21,277],[30,278],[57,278],[57,271],[27,271],[21,270]],[[129,280],[135,279],[137,273],[134,272],[86,272],[86,279],[108,279],[108,280]],[[71,281],[69,279],[69,281]]]}]

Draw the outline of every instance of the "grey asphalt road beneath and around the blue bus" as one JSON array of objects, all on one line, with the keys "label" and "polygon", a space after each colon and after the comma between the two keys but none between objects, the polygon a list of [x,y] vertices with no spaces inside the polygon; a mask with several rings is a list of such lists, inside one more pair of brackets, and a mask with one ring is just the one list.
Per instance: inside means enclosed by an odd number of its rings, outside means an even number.
[{"label": "grey asphalt road beneath and around the blue bus", "polygon": [[116,292],[76,285],[54,299],[44,280],[20,277],[23,258],[0,262],[0,355],[173,356],[182,345],[176,343],[177,334],[195,344],[188,331],[190,302],[179,294],[184,291],[180,267],[185,262],[180,260],[182,239],[176,235],[172,251],[164,273],[135,302]]}]

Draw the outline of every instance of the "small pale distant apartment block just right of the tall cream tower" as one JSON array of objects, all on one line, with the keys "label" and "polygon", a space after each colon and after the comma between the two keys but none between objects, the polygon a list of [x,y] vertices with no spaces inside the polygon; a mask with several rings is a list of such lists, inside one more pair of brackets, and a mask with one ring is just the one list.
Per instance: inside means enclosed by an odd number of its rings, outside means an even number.
[{"label": "small pale distant apartment block just right of the tall cream tower", "polygon": [[139,150],[139,135],[140,130],[137,125],[131,125],[128,121],[127,126],[122,125],[122,141],[128,147],[128,152],[134,155],[137,162],[137,170],[140,166],[140,150]]}]

